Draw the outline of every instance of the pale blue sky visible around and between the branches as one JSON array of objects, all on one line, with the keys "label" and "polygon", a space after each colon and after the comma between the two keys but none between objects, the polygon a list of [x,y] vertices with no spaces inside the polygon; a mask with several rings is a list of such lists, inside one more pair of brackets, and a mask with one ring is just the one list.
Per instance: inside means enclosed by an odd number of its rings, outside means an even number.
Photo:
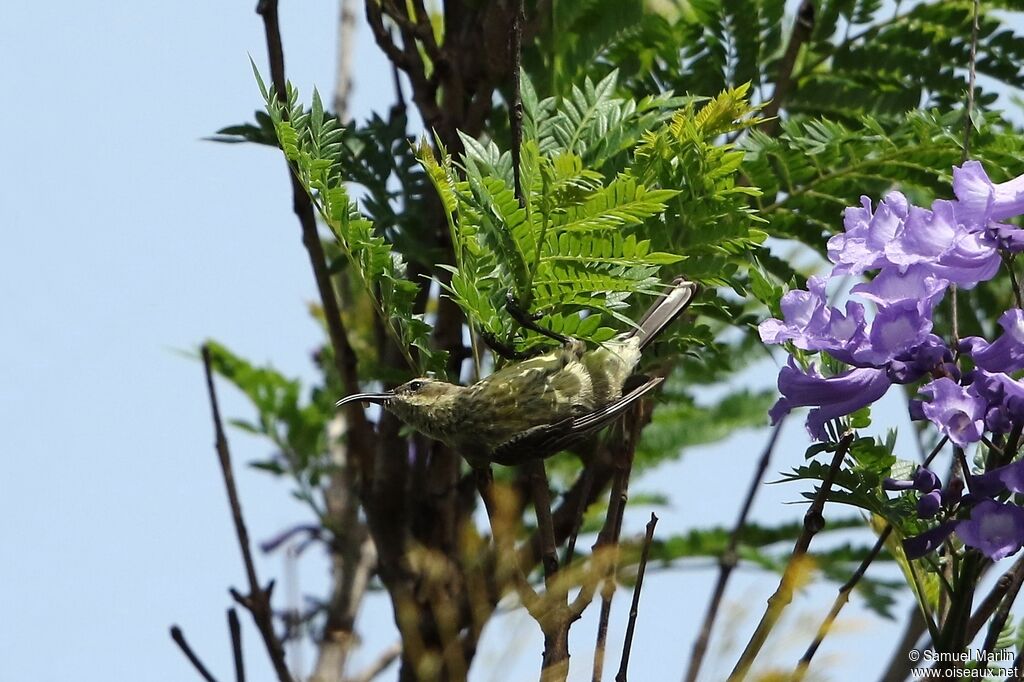
[{"label": "pale blue sky visible around and between the branches", "polygon": [[[0,8],[0,680],[198,679],[168,637],[172,623],[220,679],[231,676],[226,590],[244,573],[202,370],[178,351],[215,338],[310,378],[321,338],[306,314],[315,291],[281,158],[201,139],[260,104],[248,61],[265,69],[254,4]],[[333,1],[283,3],[288,73],[303,93],[333,85],[335,12]],[[352,113],[384,110],[390,97],[385,61],[360,30]],[[774,368],[740,381],[771,385]],[[229,417],[250,414],[227,386],[221,400]],[[673,495],[658,532],[731,524],[765,437],[694,449],[635,481],[635,491]],[[229,438],[254,540],[308,520],[286,484],[243,466],[267,445]],[[772,470],[798,464],[805,447],[791,423]],[[800,492],[768,486],[755,513],[798,518],[782,503]],[[640,532],[647,513],[632,510],[625,531]],[[281,557],[261,556],[259,569],[280,578]],[[323,594],[326,570],[318,550],[307,552],[299,589]],[[649,577],[636,679],[680,677],[714,579],[707,563]],[[717,657],[720,647],[745,641],[775,584],[737,572],[708,679],[727,673],[735,654]],[[820,585],[798,600],[769,660],[799,658],[834,594]],[[606,670],[617,663],[627,602],[620,593]],[[572,679],[590,679],[596,614],[573,628]],[[269,680],[243,616],[249,679]],[[383,595],[370,597],[359,628],[356,668],[395,639]],[[898,631],[856,602],[840,628],[818,654],[834,680],[879,670]],[[473,679],[532,679],[540,642],[521,612],[502,617],[485,632]],[[304,657],[308,671],[311,652]]]}]

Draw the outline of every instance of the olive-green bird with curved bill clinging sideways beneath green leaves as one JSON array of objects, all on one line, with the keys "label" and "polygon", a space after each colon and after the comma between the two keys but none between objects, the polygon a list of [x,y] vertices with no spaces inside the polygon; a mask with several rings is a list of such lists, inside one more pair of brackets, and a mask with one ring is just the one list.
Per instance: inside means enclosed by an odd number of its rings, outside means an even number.
[{"label": "olive-green bird with curved bill clinging sideways beneath green leaves", "polygon": [[644,349],[696,293],[694,283],[678,278],[633,329],[593,350],[580,339],[557,337],[564,339],[558,348],[469,386],[421,377],[390,391],[348,395],[336,406],[380,404],[474,468],[546,459],[610,424],[662,383],[634,373]]}]

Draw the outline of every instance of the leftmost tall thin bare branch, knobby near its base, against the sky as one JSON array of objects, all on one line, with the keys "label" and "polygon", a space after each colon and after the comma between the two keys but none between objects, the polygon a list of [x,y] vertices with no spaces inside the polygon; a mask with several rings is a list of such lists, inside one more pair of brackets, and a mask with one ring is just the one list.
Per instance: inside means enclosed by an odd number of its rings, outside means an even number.
[{"label": "leftmost tall thin bare branch, knobby near its base, against the sky", "polygon": [[270,609],[270,593],[273,581],[266,588],[261,588],[256,577],[256,565],[253,563],[252,549],[249,544],[249,530],[242,516],[242,504],[234,485],[234,473],[231,469],[231,454],[227,449],[227,437],[224,435],[224,425],[220,419],[220,407],[217,403],[217,391],[213,385],[213,368],[210,359],[210,348],[203,346],[203,369],[206,371],[206,387],[210,396],[210,409],[213,413],[213,427],[216,434],[215,447],[220,462],[220,471],[224,477],[224,487],[227,489],[227,502],[231,508],[231,520],[234,522],[234,532],[242,551],[242,560],[246,567],[246,578],[249,581],[249,594],[242,595],[231,590],[236,601],[246,607],[253,616],[253,622],[263,638],[270,663],[281,682],[292,682],[292,676],[285,664],[285,649],[273,629],[273,612]]}]

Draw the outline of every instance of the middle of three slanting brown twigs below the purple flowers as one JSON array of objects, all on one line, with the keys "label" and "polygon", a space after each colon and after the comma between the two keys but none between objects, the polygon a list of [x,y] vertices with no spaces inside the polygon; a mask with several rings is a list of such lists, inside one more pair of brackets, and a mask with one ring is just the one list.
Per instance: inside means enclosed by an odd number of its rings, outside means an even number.
[{"label": "middle of three slanting brown twigs below the purple flowers", "polygon": [[804,514],[804,529],[797,539],[793,553],[790,555],[790,560],[785,564],[782,580],[779,581],[775,593],[768,599],[768,607],[765,609],[764,615],[761,616],[761,622],[751,636],[750,641],[746,642],[746,647],[739,656],[735,668],[732,669],[732,673],[729,675],[729,682],[738,682],[746,677],[746,673],[751,670],[751,666],[754,665],[754,659],[760,653],[761,647],[764,646],[765,641],[768,639],[768,635],[782,615],[782,611],[793,601],[794,586],[798,581],[800,572],[806,570],[804,557],[807,555],[807,550],[810,548],[814,536],[824,527],[824,518],[821,514],[824,510],[825,500],[831,491],[836,476],[839,474],[843,459],[850,451],[850,444],[853,442],[854,435],[852,431],[847,433],[836,447],[831,466],[828,468],[824,480],[821,481],[821,486],[818,487],[811,506]]}]

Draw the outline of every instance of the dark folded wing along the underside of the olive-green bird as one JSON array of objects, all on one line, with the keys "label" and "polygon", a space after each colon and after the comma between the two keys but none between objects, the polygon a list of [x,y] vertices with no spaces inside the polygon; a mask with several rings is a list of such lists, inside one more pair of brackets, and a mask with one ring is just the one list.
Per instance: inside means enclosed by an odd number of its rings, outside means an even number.
[{"label": "dark folded wing along the underside of the olive-green bird", "polygon": [[511,466],[535,458],[551,457],[573,441],[610,424],[634,402],[642,398],[664,381],[662,377],[648,379],[616,400],[580,417],[569,417],[552,424],[542,424],[526,429],[509,438],[494,450],[490,461]]}]

